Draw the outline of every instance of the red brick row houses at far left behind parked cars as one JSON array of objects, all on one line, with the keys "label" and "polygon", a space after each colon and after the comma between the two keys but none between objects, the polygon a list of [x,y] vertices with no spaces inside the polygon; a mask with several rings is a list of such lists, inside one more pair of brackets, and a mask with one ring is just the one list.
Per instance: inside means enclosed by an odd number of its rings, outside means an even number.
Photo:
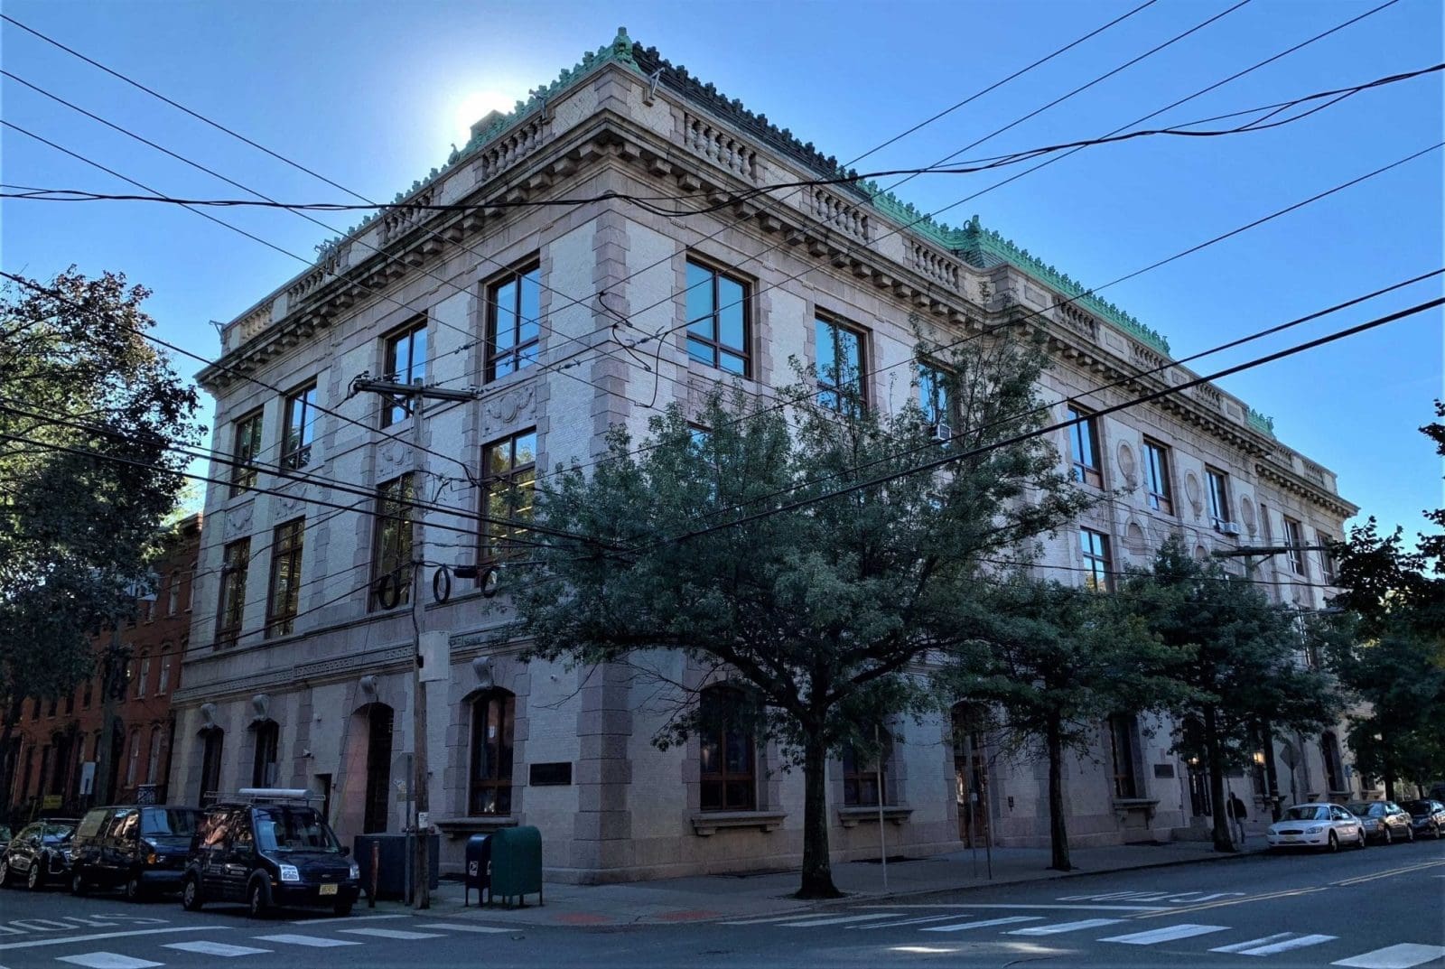
[{"label": "red brick row houses at far left behind parked cars", "polygon": [[[175,526],[152,570],[155,595],[136,602],[123,621],[124,693],[113,698],[114,731],[108,777],[98,778],[104,745],[104,666],[111,630],[92,638],[95,672],[65,696],[32,698],[22,703],[7,751],[9,788],[3,801],[14,819],[75,816],[95,804],[98,791],[111,803],[155,799],[171,793],[173,722],[171,698],[191,634],[191,591],[201,549],[201,516]],[[104,783],[98,783],[104,781]]]}]

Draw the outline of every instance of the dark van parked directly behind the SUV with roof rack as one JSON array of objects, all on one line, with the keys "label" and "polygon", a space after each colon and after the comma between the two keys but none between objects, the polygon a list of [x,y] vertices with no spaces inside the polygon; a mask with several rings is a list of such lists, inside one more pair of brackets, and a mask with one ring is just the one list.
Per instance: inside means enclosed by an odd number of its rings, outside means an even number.
[{"label": "dark van parked directly behind the SUV with roof rack", "polygon": [[71,845],[71,892],[124,887],[133,901],[179,891],[201,812],[169,804],[116,804],[85,813]]}]

